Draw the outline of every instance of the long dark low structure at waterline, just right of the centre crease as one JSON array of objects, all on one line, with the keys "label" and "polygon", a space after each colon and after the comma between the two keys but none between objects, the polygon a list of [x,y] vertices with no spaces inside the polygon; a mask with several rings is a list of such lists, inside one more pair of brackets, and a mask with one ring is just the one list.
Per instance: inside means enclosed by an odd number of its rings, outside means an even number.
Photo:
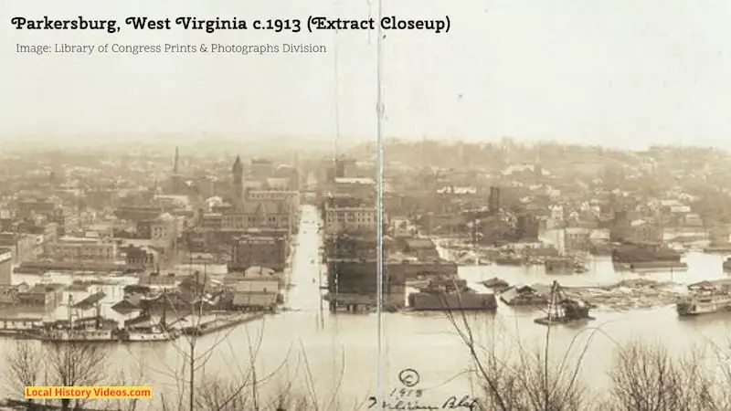
[{"label": "long dark low structure at waterline, just right of the centre crease", "polygon": [[482,294],[467,287],[464,279],[433,279],[428,287],[408,295],[413,311],[494,311],[495,295]]}]

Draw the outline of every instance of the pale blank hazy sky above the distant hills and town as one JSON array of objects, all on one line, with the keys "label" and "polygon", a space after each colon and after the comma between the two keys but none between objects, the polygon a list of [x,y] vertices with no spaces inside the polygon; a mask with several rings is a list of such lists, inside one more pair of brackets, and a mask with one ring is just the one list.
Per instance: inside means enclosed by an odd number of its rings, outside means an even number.
[{"label": "pale blank hazy sky above the distant hills and town", "polygon": [[[384,3],[387,16],[451,19],[448,34],[387,32],[388,136],[731,145],[727,0]],[[372,138],[375,32],[210,35],[124,27],[110,35],[16,31],[10,18],[367,18],[377,16],[376,7],[344,0],[0,2],[0,134],[208,132],[327,140],[336,133],[338,105],[342,139]],[[15,53],[16,43],[305,43],[323,44],[328,53],[24,56]]]}]

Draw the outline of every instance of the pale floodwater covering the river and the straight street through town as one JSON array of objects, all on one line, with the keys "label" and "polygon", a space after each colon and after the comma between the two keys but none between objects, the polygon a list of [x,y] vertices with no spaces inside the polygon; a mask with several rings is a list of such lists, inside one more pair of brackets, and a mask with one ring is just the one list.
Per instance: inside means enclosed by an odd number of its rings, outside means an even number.
[{"label": "pale floodwater covering the river and the straight street through town", "polygon": [[[293,391],[312,392],[327,406],[337,392],[337,403],[331,409],[352,409],[369,405],[366,398],[377,389],[377,314],[331,314],[321,300],[321,279],[324,269],[319,256],[321,245],[317,233],[319,219],[313,206],[303,205],[302,227],[296,238],[296,251],[291,261],[291,282],[288,311],[265,317],[263,321],[239,326],[227,332],[201,337],[196,356],[206,358],[206,366],[198,377],[228,377],[243,381],[256,369],[261,395],[267,397],[291,383]],[[653,273],[644,278],[690,283],[702,279],[724,277],[722,256],[689,255],[689,270],[684,273]],[[597,260],[590,271],[571,276],[556,276],[565,285],[609,284],[637,275],[614,273],[609,260]],[[553,278],[541,269],[481,266],[460,269],[461,277],[479,281],[500,277],[510,283],[536,282],[549,284]],[[120,291],[105,288],[108,299],[121,296]],[[546,327],[536,325],[539,311],[514,311],[501,305],[495,314],[470,314],[474,339],[482,346],[507,353],[520,346],[528,350],[546,341]],[[726,339],[731,315],[680,321],[673,307],[637,311],[593,311],[596,321],[583,327],[552,327],[549,351],[560,359],[567,346],[574,342],[573,352],[588,344],[582,362],[582,373],[591,386],[600,389],[609,379],[607,370],[618,344],[636,338],[648,338],[683,350],[694,342]],[[447,395],[470,395],[473,381],[470,356],[456,326],[445,314],[409,312],[384,313],[383,363],[386,364],[384,391],[401,388],[398,374],[403,369],[418,371],[418,388],[425,398],[443,400]],[[518,345],[520,342],[520,345]],[[3,342],[0,342],[3,343]],[[210,355],[202,355],[208,353]],[[109,370],[124,369],[127,374],[140,374],[132,385],[152,385],[156,393],[166,396],[180,392],[180,375],[190,347],[185,339],[177,342],[114,344]],[[202,360],[201,360],[202,361]],[[113,371],[110,371],[111,373]],[[312,379],[312,382],[308,380]],[[177,384],[176,384],[177,383]],[[312,388],[304,389],[305,386]],[[426,401],[426,400],[425,400]],[[424,401],[422,401],[422,404]],[[152,409],[152,408],[151,408]]]}]

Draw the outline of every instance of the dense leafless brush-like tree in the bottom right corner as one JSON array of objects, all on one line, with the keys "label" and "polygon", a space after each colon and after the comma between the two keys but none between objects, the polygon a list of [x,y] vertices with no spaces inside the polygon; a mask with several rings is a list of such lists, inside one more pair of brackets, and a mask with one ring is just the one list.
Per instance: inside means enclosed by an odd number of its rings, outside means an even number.
[{"label": "dense leafless brush-like tree in the bottom right corner", "polygon": [[632,342],[621,347],[610,371],[614,409],[721,410],[713,394],[715,378],[697,354],[673,358],[660,343]]}]

